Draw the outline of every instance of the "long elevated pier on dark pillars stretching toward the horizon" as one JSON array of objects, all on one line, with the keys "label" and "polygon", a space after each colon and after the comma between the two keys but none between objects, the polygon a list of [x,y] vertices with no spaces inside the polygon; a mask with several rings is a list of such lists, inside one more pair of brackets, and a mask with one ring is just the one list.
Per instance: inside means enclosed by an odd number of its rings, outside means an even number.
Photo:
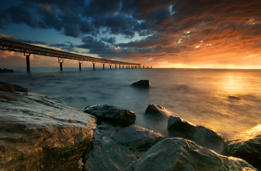
[{"label": "long elevated pier on dark pillars stretching toward the horizon", "polygon": [[[124,69],[125,65],[126,65],[126,69],[144,68],[144,66],[142,67],[140,64],[137,63],[122,62],[122,61],[108,60],[108,59],[102,59],[102,58],[91,57],[91,56],[78,55],[75,53],[58,51],[52,48],[44,48],[41,46],[35,46],[31,44],[15,42],[6,39],[0,39],[0,50],[23,53],[23,55],[26,56],[27,71],[30,71],[30,54],[57,57],[58,62],[60,63],[61,71],[62,71],[62,63],[64,62],[65,59],[78,60],[79,70],[81,70],[81,64],[84,61],[92,62],[94,70],[95,70],[96,62],[102,63],[103,69],[104,69],[104,64],[109,64],[110,69],[112,64],[115,64],[115,69],[117,69],[117,65],[119,66],[119,69],[121,69],[121,65],[122,65],[122,69]],[[152,66],[146,66],[145,68],[152,68]]]}]

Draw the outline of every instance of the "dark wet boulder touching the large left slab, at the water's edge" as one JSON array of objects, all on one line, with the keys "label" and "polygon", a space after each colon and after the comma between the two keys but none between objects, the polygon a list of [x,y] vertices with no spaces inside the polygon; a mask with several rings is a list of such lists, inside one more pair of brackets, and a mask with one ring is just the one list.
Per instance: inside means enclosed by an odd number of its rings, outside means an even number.
[{"label": "dark wet boulder touching the large left slab, at the water's edge", "polygon": [[133,124],[136,119],[136,115],[133,111],[117,106],[91,105],[87,106],[83,111],[97,117],[99,123],[107,120],[115,124],[130,125]]}]

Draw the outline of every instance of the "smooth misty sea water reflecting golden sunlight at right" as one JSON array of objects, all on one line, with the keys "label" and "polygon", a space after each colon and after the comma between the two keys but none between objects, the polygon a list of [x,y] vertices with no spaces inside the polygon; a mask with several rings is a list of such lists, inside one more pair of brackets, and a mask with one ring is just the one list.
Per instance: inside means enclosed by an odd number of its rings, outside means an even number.
[{"label": "smooth misty sea water reflecting golden sunlight at right", "polygon": [[[143,115],[151,103],[181,118],[214,129],[224,138],[261,124],[261,70],[240,69],[108,69],[26,68],[0,73],[0,80],[31,92],[64,99],[83,109],[114,105],[134,111],[136,125],[166,134],[166,123],[150,123]],[[149,89],[129,86],[150,80]],[[240,100],[228,96],[239,97]],[[71,98],[70,98],[71,97]]]}]

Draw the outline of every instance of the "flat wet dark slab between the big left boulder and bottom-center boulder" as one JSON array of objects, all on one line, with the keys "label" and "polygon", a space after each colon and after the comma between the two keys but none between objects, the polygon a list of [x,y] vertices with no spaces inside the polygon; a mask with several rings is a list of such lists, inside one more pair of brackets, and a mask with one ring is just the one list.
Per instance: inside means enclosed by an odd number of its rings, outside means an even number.
[{"label": "flat wet dark slab between the big left boulder and bottom-center boulder", "polygon": [[152,130],[101,123],[93,134],[93,143],[84,153],[83,170],[122,171],[165,137]]}]

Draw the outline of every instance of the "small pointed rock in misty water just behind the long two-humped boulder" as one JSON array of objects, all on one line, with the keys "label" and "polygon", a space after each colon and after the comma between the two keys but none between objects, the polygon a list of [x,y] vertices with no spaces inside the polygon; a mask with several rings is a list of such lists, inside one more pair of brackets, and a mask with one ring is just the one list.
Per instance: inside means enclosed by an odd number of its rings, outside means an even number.
[{"label": "small pointed rock in misty water just behind the long two-humped boulder", "polygon": [[164,107],[161,107],[160,105],[149,104],[144,116],[151,117],[153,119],[168,119],[168,117],[172,114],[172,112],[166,110]]}]

